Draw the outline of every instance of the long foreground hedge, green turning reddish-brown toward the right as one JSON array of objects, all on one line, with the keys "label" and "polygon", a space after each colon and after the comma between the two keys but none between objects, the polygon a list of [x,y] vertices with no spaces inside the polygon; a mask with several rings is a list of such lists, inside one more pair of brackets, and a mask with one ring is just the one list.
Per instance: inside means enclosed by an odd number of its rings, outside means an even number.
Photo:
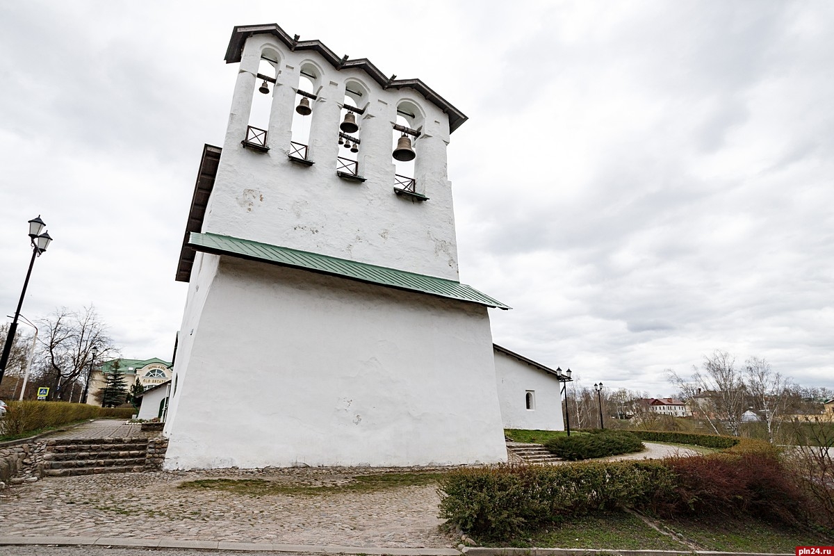
[{"label": "long foreground hedge, green turning reddish-brown toward the right", "polygon": [[793,469],[771,449],[748,448],[655,461],[460,469],[440,485],[440,515],[477,538],[504,541],[567,515],[615,508],[666,518],[815,519],[803,513]]}]

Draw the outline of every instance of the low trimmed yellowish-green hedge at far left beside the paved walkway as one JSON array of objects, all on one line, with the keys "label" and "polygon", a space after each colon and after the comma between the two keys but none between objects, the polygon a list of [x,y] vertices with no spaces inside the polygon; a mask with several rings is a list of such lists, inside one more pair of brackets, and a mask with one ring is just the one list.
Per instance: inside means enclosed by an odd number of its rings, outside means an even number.
[{"label": "low trimmed yellowish-green hedge at far left beside the paved walkway", "polygon": [[84,419],[130,418],[133,408],[99,408],[86,403],[8,402],[6,417],[0,419],[0,440],[23,438],[43,428],[60,427]]}]

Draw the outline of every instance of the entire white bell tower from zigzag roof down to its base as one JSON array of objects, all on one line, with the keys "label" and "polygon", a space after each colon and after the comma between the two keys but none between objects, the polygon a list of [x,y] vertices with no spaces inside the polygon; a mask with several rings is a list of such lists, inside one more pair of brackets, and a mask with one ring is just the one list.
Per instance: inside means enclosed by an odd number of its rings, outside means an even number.
[{"label": "entire white bell tower from zigzag roof down to its base", "polygon": [[274,24],[234,28],[225,59],[229,127],[203,148],[178,265],[165,468],[505,462],[488,308],[508,307],[458,281],[446,176],[466,117]]}]

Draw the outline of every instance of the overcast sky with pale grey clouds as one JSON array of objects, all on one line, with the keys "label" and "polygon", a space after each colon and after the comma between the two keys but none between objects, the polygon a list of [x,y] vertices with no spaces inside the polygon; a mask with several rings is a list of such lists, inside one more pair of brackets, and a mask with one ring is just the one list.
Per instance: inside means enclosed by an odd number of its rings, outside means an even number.
[{"label": "overcast sky with pale grey clouds", "polygon": [[490,310],[496,343],[652,395],[716,349],[834,388],[826,1],[0,3],[3,315],[40,214],[54,242],[23,314],[93,304],[124,357],[170,357],[225,49],[257,23],[469,116],[449,153],[460,278],[514,307]]}]

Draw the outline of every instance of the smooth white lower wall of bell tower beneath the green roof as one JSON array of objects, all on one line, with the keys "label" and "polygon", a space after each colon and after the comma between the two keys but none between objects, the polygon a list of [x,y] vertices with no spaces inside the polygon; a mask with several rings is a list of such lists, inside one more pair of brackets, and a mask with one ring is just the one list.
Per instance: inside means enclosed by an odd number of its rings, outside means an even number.
[{"label": "smooth white lower wall of bell tower beneath the green roof", "polygon": [[474,303],[224,257],[189,359],[168,469],[506,460]]}]

